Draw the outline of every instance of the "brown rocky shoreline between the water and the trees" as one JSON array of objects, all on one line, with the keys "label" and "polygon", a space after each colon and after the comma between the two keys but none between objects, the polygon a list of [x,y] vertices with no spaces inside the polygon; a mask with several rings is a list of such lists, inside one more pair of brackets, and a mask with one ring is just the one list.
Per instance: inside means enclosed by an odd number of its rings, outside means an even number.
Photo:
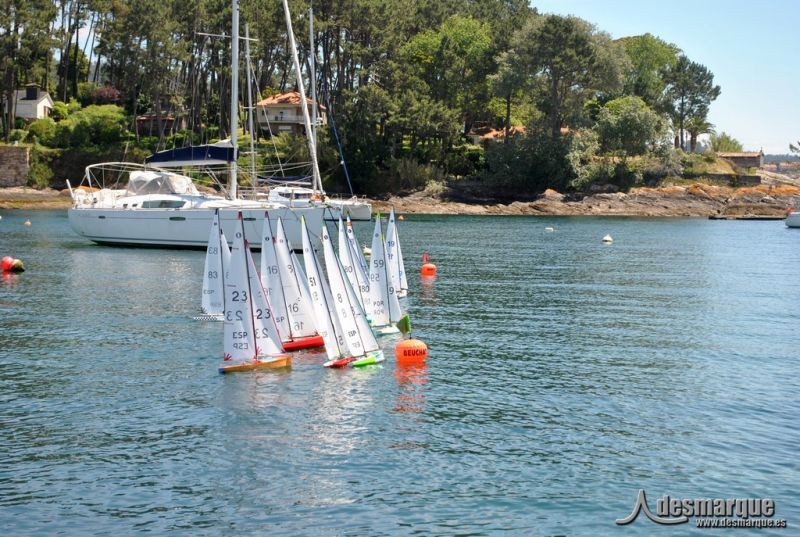
[{"label": "brown rocky shoreline between the water and the trees", "polygon": [[[368,199],[373,212],[398,214],[644,217],[785,217],[800,205],[800,186],[762,184],[731,188],[693,183],[687,186],[634,188],[627,193],[598,193],[573,198],[554,190],[531,201],[481,199],[462,192],[415,192],[388,199]],[[0,189],[0,209],[52,210],[72,206],[69,192],[28,187]]]}]

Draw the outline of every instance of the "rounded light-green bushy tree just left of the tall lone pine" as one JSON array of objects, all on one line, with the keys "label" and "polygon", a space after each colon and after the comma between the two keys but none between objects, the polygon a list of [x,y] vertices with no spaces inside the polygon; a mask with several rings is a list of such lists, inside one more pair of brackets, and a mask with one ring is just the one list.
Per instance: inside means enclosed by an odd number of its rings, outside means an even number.
[{"label": "rounded light-green bushy tree just left of the tall lone pine", "polygon": [[603,106],[595,130],[603,150],[642,155],[658,141],[663,121],[640,97],[627,96]]}]

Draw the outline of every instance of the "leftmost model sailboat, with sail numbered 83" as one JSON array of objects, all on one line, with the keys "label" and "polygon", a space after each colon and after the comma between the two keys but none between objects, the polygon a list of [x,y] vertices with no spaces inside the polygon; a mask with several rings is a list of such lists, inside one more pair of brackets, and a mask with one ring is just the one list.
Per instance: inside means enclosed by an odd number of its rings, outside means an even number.
[{"label": "leftmost model sailboat, with sail numbered 83", "polygon": [[203,295],[200,321],[221,321],[225,313],[225,271],[231,264],[231,251],[219,225],[219,211],[214,212],[208,234],[206,261],[203,267]]}]

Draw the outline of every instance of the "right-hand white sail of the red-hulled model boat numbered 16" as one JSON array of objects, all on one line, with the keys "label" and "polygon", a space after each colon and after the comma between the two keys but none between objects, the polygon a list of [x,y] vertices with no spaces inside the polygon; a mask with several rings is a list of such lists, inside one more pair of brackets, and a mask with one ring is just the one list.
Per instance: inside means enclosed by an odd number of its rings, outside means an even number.
[{"label": "right-hand white sail of the red-hulled model boat numbered 16", "polygon": [[283,231],[283,221],[278,218],[275,255],[283,285],[283,299],[289,316],[291,334],[294,338],[313,336],[317,333],[313,309],[308,297],[306,277],[289,240]]}]

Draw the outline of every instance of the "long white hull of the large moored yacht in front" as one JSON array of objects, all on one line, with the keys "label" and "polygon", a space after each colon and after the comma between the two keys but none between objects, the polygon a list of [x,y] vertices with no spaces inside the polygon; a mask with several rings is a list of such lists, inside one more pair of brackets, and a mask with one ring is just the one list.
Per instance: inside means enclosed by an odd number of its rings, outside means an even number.
[{"label": "long white hull of the large moored yacht in front", "polygon": [[[226,237],[234,236],[237,212],[237,209],[220,210],[220,224]],[[264,208],[242,209],[248,237],[261,236],[264,212]],[[300,217],[305,217],[309,231],[319,236],[322,213],[321,207],[269,209],[275,225],[281,217],[287,238],[296,249],[302,246]],[[99,244],[205,249],[214,209],[71,208],[68,216],[78,235]],[[251,246],[260,248],[260,241],[253,241]]]}]

